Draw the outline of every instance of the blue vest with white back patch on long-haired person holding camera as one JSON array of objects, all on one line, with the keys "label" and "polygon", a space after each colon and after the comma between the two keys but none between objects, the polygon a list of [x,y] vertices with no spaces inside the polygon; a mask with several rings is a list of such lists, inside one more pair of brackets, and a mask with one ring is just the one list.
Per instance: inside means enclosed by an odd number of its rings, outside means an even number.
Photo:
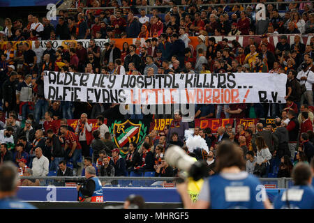
[{"label": "blue vest with white back patch on long-haired person holding camera", "polygon": [[205,180],[199,195],[199,200],[208,201],[213,209],[263,209],[265,199],[260,180],[245,171],[212,176]]}]

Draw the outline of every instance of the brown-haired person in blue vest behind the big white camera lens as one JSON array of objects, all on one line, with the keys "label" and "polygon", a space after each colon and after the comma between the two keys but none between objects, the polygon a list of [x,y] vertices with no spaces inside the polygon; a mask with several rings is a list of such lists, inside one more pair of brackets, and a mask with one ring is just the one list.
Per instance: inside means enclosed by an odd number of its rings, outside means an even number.
[{"label": "brown-haired person in blue vest behind the big white camera lens", "polygon": [[217,174],[204,180],[196,203],[188,196],[187,183],[177,184],[185,208],[272,208],[265,190],[258,187],[260,180],[244,171],[245,167],[241,148],[223,141],[216,155]]}]

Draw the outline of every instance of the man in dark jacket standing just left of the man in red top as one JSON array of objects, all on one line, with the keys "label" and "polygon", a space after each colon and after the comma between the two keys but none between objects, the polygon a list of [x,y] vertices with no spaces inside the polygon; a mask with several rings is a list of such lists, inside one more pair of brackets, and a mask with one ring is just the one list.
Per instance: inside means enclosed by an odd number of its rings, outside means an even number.
[{"label": "man in dark jacket standing just left of the man in red top", "polygon": [[47,147],[52,151],[51,154],[51,166],[50,170],[57,170],[59,162],[63,160],[64,153],[63,148],[61,147],[61,143],[59,137],[54,134],[53,130],[47,130]]}]

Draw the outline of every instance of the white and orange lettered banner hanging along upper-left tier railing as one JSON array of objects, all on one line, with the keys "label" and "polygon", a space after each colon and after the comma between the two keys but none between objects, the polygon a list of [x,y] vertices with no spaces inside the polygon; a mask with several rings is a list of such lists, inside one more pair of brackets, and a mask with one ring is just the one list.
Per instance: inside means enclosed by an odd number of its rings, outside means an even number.
[{"label": "white and orange lettered banner hanging along upper-left tier railing", "polygon": [[[100,49],[105,49],[105,43],[108,43],[110,39],[95,39],[96,46],[100,47]],[[77,47],[78,42],[83,43],[83,47],[87,49],[89,47],[89,40],[41,40],[39,47],[47,48],[47,43],[51,41],[52,49],[57,50],[59,46],[63,46],[64,49],[69,49],[68,45],[72,42],[75,43],[75,47]],[[32,49],[35,49],[35,41],[32,43]]]}]

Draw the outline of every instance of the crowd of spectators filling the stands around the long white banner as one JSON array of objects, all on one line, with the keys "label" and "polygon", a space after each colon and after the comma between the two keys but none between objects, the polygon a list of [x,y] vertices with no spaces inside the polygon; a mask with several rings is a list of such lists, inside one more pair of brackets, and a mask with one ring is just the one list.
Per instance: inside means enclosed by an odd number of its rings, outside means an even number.
[{"label": "crowd of spectators filling the stands around the long white banner", "polygon": [[[77,169],[80,157],[84,157],[84,167],[96,168],[98,176],[138,176],[147,172],[153,172],[154,176],[176,176],[177,170],[163,160],[165,150],[176,144],[188,153],[184,146],[188,123],[177,113],[165,130],[149,132],[142,144],[130,143],[128,153],[122,153],[112,142],[104,123],[104,118],[129,118],[119,113],[119,105],[48,101],[43,91],[44,70],[148,76],[223,72],[286,74],[285,104],[195,105],[195,118],[272,117],[276,122],[267,126],[257,123],[248,129],[237,125],[236,130],[226,125],[218,128],[218,134],[195,128],[194,135],[206,141],[209,153],[200,148],[190,155],[206,160],[209,173],[214,174],[216,146],[223,140],[235,141],[244,151],[246,171],[260,177],[269,174],[288,177],[294,164],[309,162],[314,153],[314,37],[305,45],[301,34],[314,33],[311,2],[280,4],[279,10],[284,10],[284,16],[268,4],[265,20],[256,20],[255,5],[200,6],[202,3],[205,1],[122,0],[87,1],[82,5],[80,1],[73,1],[73,8],[77,9],[60,10],[55,27],[47,17],[38,15],[29,15],[27,23],[7,18],[0,31],[0,40],[8,41],[0,52],[0,162],[12,160],[20,167],[21,176],[25,173],[47,176],[49,171],[57,169],[58,176],[71,176],[73,171],[67,162],[71,160],[73,169]],[[136,8],[148,4],[169,4],[169,7],[153,8],[148,17],[145,10]],[[188,6],[178,7],[180,4]],[[84,6],[117,8],[114,13],[114,10],[84,11]],[[276,46],[268,41],[273,34],[281,34]],[[292,45],[287,43],[286,34],[296,34]],[[260,35],[262,40],[256,43],[251,37],[248,45],[232,40],[230,47],[227,38],[221,42],[214,38],[239,35]],[[195,49],[189,44],[189,36],[197,36]],[[110,40],[102,51],[96,40],[105,38]],[[124,43],[119,49],[115,38],[147,40],[144,45],[140,40],[134,45]],[[70,42],[69,49],[52,48],[50,40],[68,39],[77,40],[77,46]],[[84,39],[90,39],[87,48],[80,42]],[[22,40],[34,41],[35,47],[21,42],[14,49],[13,41]],[[40,40],[47,40],[45,50],[39,47]],[[136,119],[145,117],[136,116]],[[67,125],[67,119],[73,118],[79,119],[76,129]],[[88,118],[97,119],[98,130],[92,130]],[[57,125],[58,120],[61,126]],[[44,121],[43,126],[40,121]],[[38,183],[25,182],[26,185]]]}]

